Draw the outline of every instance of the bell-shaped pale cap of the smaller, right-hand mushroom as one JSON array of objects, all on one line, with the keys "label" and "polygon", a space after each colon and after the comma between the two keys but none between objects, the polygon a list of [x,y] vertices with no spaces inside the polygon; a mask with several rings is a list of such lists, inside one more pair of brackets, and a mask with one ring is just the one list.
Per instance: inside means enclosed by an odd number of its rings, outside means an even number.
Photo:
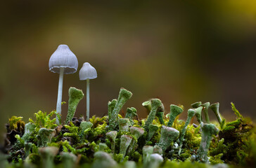
[{"label": "bell-shaped pale cap of the smaller, right-hand mushroom", "polygon": [[85,62],[79,71],[80,80],[87,80],[97,78],[97,71],[94,66],[91,66],[89,62]]}]

